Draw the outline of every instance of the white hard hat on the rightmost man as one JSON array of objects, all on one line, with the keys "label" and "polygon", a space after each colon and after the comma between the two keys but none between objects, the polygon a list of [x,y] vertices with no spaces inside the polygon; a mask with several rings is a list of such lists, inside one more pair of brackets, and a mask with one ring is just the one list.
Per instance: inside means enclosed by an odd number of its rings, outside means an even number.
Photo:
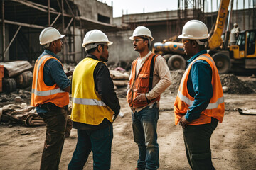
[{"label": "white hard hat on the rightmost man", "polygon": [[209,37],[208,28],[206,24],[198,20],[191,20],[186,22],[183,26],[182,34],[178,38],[188,40],[203,40]]}]

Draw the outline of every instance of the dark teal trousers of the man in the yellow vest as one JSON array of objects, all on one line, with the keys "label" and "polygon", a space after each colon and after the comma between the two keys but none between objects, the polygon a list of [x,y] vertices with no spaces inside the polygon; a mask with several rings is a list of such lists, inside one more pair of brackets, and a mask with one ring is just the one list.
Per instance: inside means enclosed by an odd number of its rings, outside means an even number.
[{"label": "dark teal trousers of the man in the yellow vest", "polygon": [[93,154],[93,169],[110,169],[113,125],[99,130],[78,130],[78,143],[68,170],[83,169],[90,152]]}]

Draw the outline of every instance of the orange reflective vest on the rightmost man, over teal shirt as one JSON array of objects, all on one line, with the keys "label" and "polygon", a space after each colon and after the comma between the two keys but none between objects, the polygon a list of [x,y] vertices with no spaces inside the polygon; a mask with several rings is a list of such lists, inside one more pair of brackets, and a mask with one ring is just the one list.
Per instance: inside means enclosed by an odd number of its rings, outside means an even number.
[{"label": "orange reflective vest on the rightmost man, over teal shirt", "polygon": [[[210,123],[211,117],[218,119],[220,123],[222,123],[225,108],[223,90],[220,82],[220,76],[218,74],[218,69],[215,66],[213,58],[208,54],[200,55],[196,58],[196,60],[205,60],[208,62],[208,64],[210,64],[212,69],[211,84],[213,86],[213,97],[210,99],[210,103],[208,104],[207,108],[202,111],[200,117],[196,120],[192,120],[191,123],[188,123],[188,125],[201,125]],[[187,82],[192,64],[196,62],[196,60],[193,60],[193,62],[188,66],[181,79],[178,95],[176,97],[176,101],[174,102],[174,115],[176,125],[178,124],[181,117],[187,113],[188,107],[193,105],[194,98],[188,94]]]}]

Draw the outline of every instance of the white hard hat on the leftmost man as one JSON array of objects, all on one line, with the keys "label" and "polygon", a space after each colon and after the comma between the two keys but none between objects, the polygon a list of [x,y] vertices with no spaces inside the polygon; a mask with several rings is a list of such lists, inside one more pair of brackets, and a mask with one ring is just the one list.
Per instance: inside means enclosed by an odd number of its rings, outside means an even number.
[{"label": "white hard hat on the leftmost man", "polygon": [[65,37],[65,35],[61,35],[57,29],[53,27],[48,27],[44,28],[40,33],[39,42],[41,45],[46,45],[63,37]]}]

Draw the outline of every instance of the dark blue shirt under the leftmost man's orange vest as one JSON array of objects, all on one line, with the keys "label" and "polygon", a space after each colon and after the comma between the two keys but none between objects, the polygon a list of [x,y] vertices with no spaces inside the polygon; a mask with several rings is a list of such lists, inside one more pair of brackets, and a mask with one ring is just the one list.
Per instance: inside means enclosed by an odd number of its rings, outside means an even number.
[{"label": "dark blue shirt under the leftmost man's orange vest", "polygon": [[[44,50],[40,57],[43,57],[44,55],[51,55],[56,59],[60,60],[60,57],[58,57],[58,55],[55,55],[49,50]],[[65,89],[66,87],[70,86],[71,82],[65,75],[63,66],[60,62],[58,62],[58,60],[47,60],[46,64],[43,67],[43,81],[47,86],[53,86],[53,84],[58,84],[60,89]],[[40,108],[39,106],[36,107],[36,111],[38,113],[48,112],[46,109]]]}]

